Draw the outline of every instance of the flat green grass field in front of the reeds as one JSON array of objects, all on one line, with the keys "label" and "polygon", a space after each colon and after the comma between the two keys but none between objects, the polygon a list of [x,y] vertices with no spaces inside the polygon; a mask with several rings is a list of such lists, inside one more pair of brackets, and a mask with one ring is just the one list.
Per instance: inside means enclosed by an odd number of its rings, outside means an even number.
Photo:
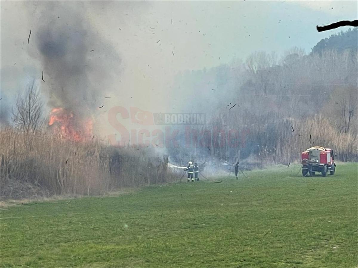
[{"label": "flat green grass field in front of the reeds", "polygon": [[358,164],[299,168],[8,207],[0,267],[358,267]]}]

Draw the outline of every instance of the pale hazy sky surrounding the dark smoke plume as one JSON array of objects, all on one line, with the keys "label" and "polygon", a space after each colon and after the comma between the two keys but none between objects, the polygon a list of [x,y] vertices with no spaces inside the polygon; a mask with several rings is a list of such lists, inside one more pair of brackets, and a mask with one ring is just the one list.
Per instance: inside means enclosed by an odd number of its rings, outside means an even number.
[{"label": "pale hazy sky surrounding the dark smoke plume", "polygon": [[[0,86],[6,98],[32,78],[40,82],[42,64],[31,51],[38,25],[46,14],[43,3],[1,1]],[[53,19],[66,24],[63,10],[74,10],[96,34],[93,38],[101,39],[118,54],[118,68],[108,78],[112,86],[101,89],[103,95],[116,95],[108,105],[156,111],[166,108],[168,89],[179,71],[245,59],[255,50],[280,54],[298,46],[309,53],[320,39],[347,30],[318,33],[316,25],[358,17],[358,1],[344,0],[53,3]],[[62,12],[56,18],[59,6]],[[30,29],[33,39],[27,44]],[[101,47],[93,49],[91,57],[99,55],[96,53],[106,56],[106,51],[99,51]]]}]

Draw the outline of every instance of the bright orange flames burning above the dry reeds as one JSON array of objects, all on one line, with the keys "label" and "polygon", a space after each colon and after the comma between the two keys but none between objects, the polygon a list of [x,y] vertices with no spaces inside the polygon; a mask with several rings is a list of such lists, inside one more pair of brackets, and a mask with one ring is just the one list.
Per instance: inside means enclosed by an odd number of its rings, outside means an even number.
[{"label": "bright orange flames burning above the dry reeds", "polygon": [[74,120],[72,112],[61,107],[51,110],[48,124],[55,125],[54,130],[65,139],[82,141],[92,137],[93,122],[91,119],[79,123]]}]

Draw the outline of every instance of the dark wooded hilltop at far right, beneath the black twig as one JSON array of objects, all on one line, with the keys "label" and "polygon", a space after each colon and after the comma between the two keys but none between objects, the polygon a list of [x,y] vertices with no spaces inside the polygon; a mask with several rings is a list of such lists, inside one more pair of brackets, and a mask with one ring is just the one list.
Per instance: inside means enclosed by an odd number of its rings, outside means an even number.
[{"label": "dark wooded hilltop at far right, beneath the black twig", "polygon": [[346,49],[358,50],[358,27],[348,31],[341,31],[339,34],[333,34],[329,38],[322,39],[312,49],[311,53],[319,53],[326,49],[335,49],[341,52]]}]

